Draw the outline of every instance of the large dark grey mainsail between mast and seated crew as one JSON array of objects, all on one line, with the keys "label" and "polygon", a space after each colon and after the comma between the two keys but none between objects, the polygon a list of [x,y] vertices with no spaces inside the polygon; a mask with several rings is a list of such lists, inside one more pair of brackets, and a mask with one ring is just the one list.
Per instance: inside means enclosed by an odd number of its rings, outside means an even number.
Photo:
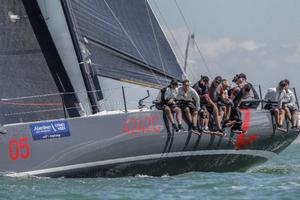
[{"label": "large dark grey mainsail between mast and seated crew", "polygon": [[146,0],[62,0],[99,76],[156,85],[182,70]]}]

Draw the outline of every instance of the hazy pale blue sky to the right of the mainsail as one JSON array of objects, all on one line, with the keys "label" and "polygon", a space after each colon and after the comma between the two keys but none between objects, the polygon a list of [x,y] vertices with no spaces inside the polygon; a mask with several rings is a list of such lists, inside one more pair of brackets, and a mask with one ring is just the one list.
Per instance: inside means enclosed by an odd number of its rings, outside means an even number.
[{"label": "hazy pale blue sky to the right of the mainsail", "polygon": [[[175,0],[148,1],[182,64],[188,30]],[[260,83],[265,89],[288,78],[300,91],[299,0],[177,2],[196,35],[212,76],[223,75],[231,80],[234,74],[244,72],[250,82]],[[190,53],[188,74],[192,78],[209,75],[195,47]]]}]

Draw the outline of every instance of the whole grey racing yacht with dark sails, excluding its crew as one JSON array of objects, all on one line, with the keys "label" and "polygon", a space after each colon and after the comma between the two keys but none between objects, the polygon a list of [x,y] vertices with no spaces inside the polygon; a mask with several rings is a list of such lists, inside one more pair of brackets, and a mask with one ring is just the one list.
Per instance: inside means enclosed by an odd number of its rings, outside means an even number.
[{"label": "whole grey racing yacht with dark sails, excluding its crew", "polygon": [[[151,106],[183,71],[143,0],[0,0],[0,172],[161,176],[245,171],[299,135],[243,110],[225,136],[174,132]],[[148,92],[147,92],[148,90]]]}]

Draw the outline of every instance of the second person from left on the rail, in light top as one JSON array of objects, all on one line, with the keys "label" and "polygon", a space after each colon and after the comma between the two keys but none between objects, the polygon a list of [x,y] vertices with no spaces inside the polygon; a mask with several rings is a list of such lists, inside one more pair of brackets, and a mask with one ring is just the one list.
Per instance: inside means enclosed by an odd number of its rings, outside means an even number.
[{"label": "second person from left on the rail, in light top", "polygon": [[190,81],[184,80],[182,87],[178,89],[177,100],[180,101],[189,126],[192,130],[197,130],[198,111],[200,110],[200,98],[197,92],[190,87]]}]

